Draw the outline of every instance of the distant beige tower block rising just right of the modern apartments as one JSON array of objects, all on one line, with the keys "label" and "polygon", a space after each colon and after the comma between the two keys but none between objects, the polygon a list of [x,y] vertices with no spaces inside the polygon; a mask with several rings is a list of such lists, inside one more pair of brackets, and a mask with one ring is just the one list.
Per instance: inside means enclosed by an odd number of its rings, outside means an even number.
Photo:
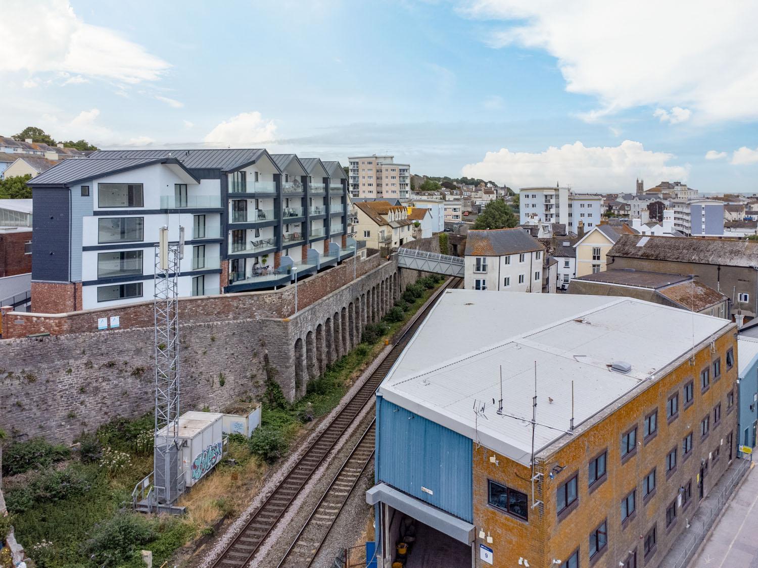
[{"label": "distant beige tower block rising just right of the modern apartments", "polygon": [[394,156],[376,154],[348,161],[352,197],[410,198],[410,164],[396,164]]}]

